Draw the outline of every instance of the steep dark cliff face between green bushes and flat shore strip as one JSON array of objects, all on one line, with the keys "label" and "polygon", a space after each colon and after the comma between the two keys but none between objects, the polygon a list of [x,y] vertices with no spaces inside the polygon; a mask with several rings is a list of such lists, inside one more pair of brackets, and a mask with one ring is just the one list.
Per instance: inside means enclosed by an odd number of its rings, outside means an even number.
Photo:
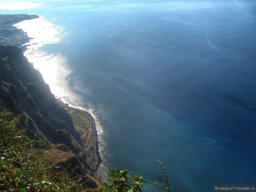
[{"label": "steep dark cliff face between green bushes and flat shore strip", "polygon": [[[72,118],[18,47],[0,46],[0,107],[14,117],[21,115],[21,127],[27,128],[30,138],[49,141],[57,145],[56,152],[71,154],[62,164],[71,161],[80,166],[79,174],[92,176],[93,168],[86,161]],[[88,185],[95,187],[97,183]]]}]

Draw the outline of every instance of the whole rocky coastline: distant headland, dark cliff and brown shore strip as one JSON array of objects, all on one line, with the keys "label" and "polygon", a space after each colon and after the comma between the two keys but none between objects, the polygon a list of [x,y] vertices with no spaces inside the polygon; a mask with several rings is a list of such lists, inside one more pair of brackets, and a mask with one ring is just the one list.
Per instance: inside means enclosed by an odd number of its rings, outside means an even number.
[{"label": "whole rocky coastline: distant headland, dark cliff and brown shore strip", "polygon": [[21,117],[20,129],[26,128],[31,139],[53,144],[45,161],[57,163],[85,176],[89,188],[102,181],[96,174],[101,163],[94,118],[56,99],[39,71],[23,55],[21,48],[30,40],[12,25],[38,16],[0,15],[0,110]]}]

